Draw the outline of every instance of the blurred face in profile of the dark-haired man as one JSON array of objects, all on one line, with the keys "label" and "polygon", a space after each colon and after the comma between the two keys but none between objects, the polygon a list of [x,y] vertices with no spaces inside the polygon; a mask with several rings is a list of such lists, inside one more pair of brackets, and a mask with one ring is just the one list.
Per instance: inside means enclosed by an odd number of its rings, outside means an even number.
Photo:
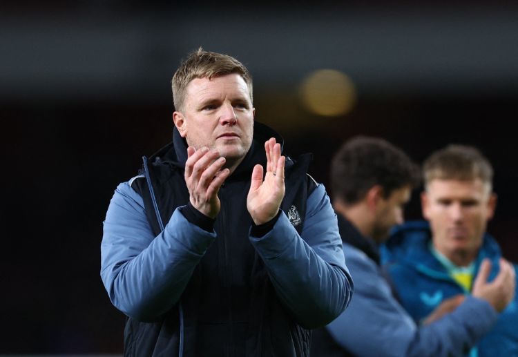
[{"label": "blurred face in profile of the dark-haired man", "polygon": [[403,211],[411,191],[410,186],[403,186],[392,191],[386,199],[381,197],[372,229],[372,239],[376,242],[386,240],[392,226],[403,223]]}]

